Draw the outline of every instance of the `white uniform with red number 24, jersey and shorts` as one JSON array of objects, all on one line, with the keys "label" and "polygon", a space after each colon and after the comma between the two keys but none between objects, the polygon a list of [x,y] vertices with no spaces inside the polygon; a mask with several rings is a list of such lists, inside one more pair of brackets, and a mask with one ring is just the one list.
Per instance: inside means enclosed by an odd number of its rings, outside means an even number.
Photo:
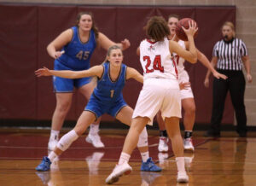
[{"label": "white uniform with red number 24, jersey and shorts", "polygon": [[148,117],[150,124],[158,111],[163,119],[181,118],[181,98],[177,81],[177,65],[172,61],[169,41],[140,44],[140,61],[143,67],[143,90],[137,100],[132,118]]}]

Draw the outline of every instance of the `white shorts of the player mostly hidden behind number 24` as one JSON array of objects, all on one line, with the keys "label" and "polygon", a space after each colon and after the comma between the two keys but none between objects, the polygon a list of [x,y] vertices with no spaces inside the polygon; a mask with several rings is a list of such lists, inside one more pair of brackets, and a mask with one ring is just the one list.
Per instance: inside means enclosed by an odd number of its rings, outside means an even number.
[{"label": "white shorts of the player mostly hidden behind number 24", "polygon": [[[178,73],[178,81],[179,83],[189,82],[189,74],[187,71],[183,70],[182,72]],[[180,96],[182,100],[186,98],[194,98],[191,87],[188,89],[180,90]]]}]

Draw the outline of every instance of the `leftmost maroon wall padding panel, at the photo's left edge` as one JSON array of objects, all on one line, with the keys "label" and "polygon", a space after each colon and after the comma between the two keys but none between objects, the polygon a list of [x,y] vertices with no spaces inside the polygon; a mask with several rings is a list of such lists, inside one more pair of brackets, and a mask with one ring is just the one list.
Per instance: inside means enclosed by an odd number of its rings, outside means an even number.
[{"label": "leftmost maroon wall padding panel, at the photo's left edge", "polygon": [[0,6],[0,118],[37,118],[38,18],[34,6]]}]

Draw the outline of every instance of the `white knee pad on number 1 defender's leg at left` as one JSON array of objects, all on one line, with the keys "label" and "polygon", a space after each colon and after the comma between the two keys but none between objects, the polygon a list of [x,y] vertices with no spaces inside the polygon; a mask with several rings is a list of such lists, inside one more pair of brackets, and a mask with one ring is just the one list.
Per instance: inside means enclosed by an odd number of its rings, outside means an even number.
[{"label": "white knee pad on number 1 defender's leg at left", "polygon": [[72,130],[67,132],[63,137],[61,137],[60,141],[57,144],[57,148],[60,148],[62,151],[67,150],[69,146],[73,143],[73,141],[77,140],[79,135],[76,131]]}]

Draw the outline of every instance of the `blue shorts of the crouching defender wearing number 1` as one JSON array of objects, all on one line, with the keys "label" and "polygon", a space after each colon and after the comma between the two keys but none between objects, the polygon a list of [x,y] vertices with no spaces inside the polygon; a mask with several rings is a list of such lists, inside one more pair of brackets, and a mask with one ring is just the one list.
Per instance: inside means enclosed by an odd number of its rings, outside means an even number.
[{"label": "blue shorts of the crouching defender wearing number 1", "polygon": [[127,106],[127,103],[123,98],[120,98],[115,102],[102,102],[99,97],[92,94],[84,110],[94,113],[96,119],[104,113],[108,113],[115,118],[119,111],[125,106]]}]

